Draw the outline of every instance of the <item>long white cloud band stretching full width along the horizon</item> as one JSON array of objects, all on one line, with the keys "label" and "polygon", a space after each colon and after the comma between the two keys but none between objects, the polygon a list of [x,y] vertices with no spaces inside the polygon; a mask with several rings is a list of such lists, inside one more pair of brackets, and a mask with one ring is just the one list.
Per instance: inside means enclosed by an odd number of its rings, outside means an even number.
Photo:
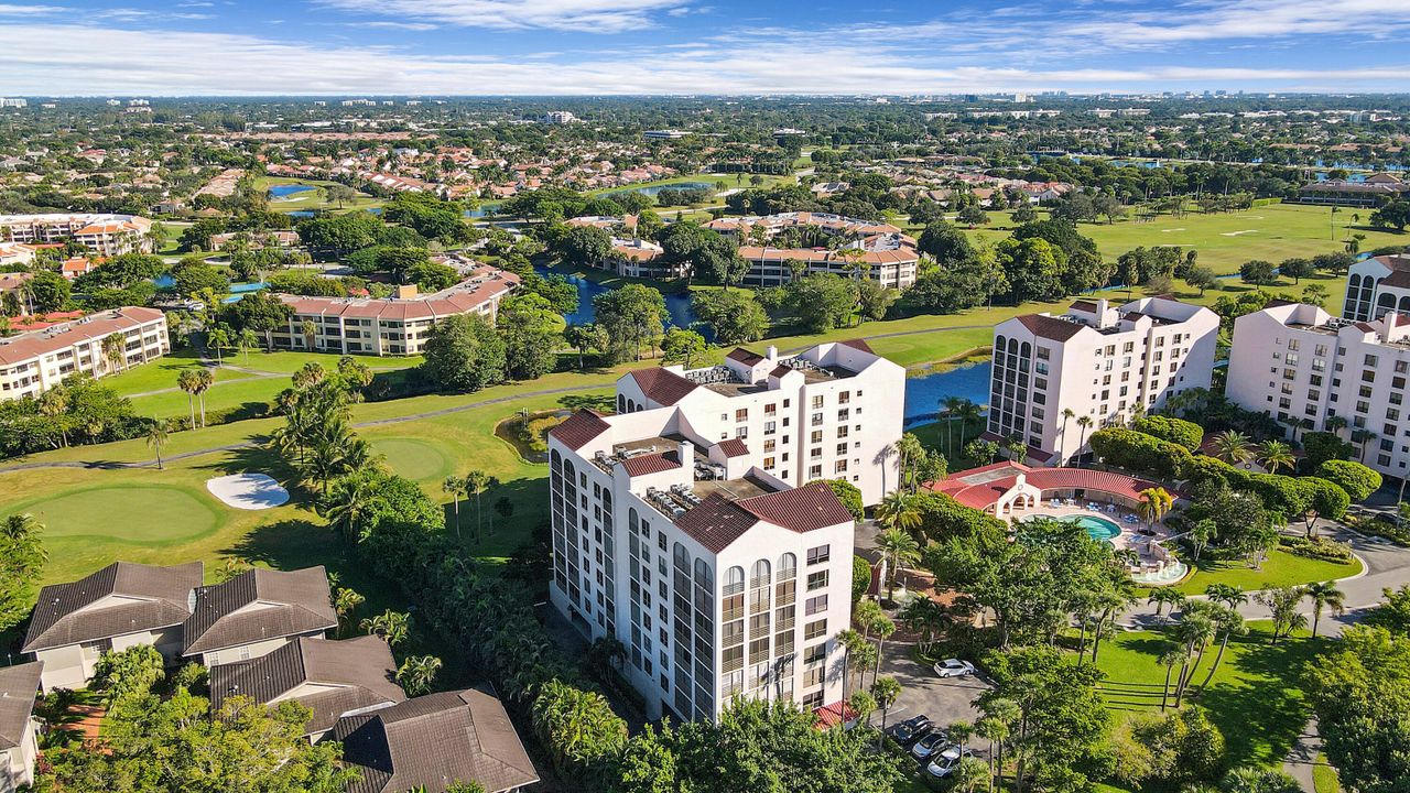
[{"label": "long white cloud band stretching full width along the horizon", "polygon": [[[448,56],[251,35],[4,25],[0,73],[18,95],[682,95],[945,93],[1249,87],[1400,90],[1410,68],[993,68],[926,62],[853,42],[781,40],[689,49]],[[65,47],[55,48],[54,41]],[[993,63],[990,58],[976,58]]]}]

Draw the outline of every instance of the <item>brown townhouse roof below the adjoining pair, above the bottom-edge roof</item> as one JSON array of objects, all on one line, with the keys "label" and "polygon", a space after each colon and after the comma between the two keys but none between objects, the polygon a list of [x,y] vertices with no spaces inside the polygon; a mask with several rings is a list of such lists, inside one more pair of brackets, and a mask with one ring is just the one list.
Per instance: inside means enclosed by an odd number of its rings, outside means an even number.
[{"label": "brown townhouse roof below the adjoining pair, above the bottom-edge roof", "polygon": [[[302,686],[313,690],[299,694]],[[214,708],[227,697],[250,697],[268,704],[290,693],[313,711],[305,725],[306,734],[333,730],[345,713],[406,700],[396,684],[392,649],[376,636],[341,642],[300,636],[269,655],[210,669]]]}]

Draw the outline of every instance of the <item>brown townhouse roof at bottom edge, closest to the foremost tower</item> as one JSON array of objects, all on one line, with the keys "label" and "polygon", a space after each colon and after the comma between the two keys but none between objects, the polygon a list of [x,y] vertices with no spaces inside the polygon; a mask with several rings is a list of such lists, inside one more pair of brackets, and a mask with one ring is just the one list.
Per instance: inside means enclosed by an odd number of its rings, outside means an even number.
[{"label": "brown townhouse roof at bottom edge, closest to the foremost tower", "polygon": [[457,782],[501,793],[539,780],[503,704],[475,689],[345,715],[334,737],[361,775],[348,793],[443,793]]}]

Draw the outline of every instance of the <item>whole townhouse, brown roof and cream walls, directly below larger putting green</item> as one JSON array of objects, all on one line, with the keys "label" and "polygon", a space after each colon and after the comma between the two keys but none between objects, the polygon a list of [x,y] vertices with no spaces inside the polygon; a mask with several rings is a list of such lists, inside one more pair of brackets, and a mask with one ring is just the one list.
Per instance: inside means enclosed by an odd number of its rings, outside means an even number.
[{"label": "whole townhouse, brown roof and cream walls, directly below larger putting green", "polygon": [[82,689],[107,650],[151,645],[175,662],[203,569],[200,562],[114,562],[78,581],[41,588],[20,649],[42,662],[42,689]]}]

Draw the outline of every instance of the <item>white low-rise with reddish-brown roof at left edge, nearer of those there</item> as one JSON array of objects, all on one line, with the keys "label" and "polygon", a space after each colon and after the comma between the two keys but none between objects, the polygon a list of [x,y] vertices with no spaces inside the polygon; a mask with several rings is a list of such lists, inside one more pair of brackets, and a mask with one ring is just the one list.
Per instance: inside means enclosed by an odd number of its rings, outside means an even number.
[{"label": "white low-rise with reddish-brown roof at left edge, nearer of those there", "polygon": [[[103,341],[123,337],[123,360],[113,361]],[[127,306],[0,339],[0,399],[38,396],[73,373],[103,377],[171,351],[166,315]]]}]

